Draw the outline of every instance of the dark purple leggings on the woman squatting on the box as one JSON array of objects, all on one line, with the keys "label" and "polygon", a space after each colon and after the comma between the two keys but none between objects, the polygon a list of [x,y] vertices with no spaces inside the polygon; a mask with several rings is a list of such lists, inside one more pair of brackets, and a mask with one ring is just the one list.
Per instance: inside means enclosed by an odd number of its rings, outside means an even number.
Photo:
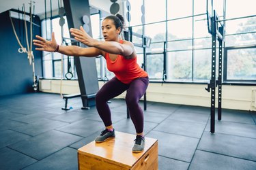
[{"label": "dark purple leggings on the woman squatting on the box", "polygon": [[112,125],[111,111],[106,102],[114,97],[117,97],[118,95],[121,95],[122,92],[127,90],[126,105],[129,109],[130,118],[135,126],[136,133],[142,133],[144,117],[143,111],[139,106],[139,99],[141,99],[141,97],[145,94],[148,84],[149,79],[147,77],[132,80],[130,84],[124,84],[115,77],[109,80],[109,82],[106,82],[106,84],[100,88],[96,95],[96,107],[100,118],[104,122],[104,125]]}]

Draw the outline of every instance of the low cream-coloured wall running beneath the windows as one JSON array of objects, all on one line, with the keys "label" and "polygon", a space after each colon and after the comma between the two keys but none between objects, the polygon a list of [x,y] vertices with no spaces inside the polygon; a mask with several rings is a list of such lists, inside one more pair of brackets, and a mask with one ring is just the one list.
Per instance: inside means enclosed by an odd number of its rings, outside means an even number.
[{"label": "low cream-coloured wall running beneath the windows", "polygon": [[[99,82],[100,88],[104,82]],[[61,91],[63,94],[79,93],[76,80],[63,80]],[[147,101],[173,103],[182,105],[198,105],[210,107],[210,92],[205,90],[206,84],[161,84],[150,83],[147,88]],[[229,86],[223,85],[222,107],[226,109],[256,110],[252,106],[253,88],[256,86]],[[217,88],[216,88],[217,90]],[[60,92],[60,80],[40,80],[40,91]],[[126,93],[117,98],[125,97]],[[217,102],[216,95],[216,102]],[[216,107],[218,104],[216,103]]]}]

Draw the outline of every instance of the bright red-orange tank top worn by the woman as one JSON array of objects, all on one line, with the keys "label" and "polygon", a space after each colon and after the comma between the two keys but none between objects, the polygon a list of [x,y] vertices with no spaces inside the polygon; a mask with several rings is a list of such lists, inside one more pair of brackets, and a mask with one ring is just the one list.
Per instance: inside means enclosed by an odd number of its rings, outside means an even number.
[{"label": "bright red-orange tank top worn by the woman", "polygon": [[[123,40],[120,40],[119,42],[123,44]],[[126,59],[122,55],[117,55],[115,61],[111,61],[109,53],[106,53],[105,58],[106,67],[124,84],[129,84],[136,78],[144,78],[148,76],[147,72],[141,69],[137,64],[137,56],[132,59]]]}]

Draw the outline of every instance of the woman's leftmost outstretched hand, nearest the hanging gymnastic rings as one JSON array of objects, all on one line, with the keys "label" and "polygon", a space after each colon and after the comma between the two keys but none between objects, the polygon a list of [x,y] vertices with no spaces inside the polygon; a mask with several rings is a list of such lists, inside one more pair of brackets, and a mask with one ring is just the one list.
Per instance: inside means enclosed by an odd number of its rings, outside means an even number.
[{"label": "woman's leftmost outstretched hand, nearest the hanging gymnastic rings", "polygon": [[52,39],[51,41],[47,41],[43,37],[40,37],[39,35],[35,35],[37,39],[33,39],[33,45],[38,46],[38,48],[35,48],[35,50],[40,51],[47,51],[47,52],[55,52],[57,48],[57,42],[54,36],[54,33],[52,33]]}]

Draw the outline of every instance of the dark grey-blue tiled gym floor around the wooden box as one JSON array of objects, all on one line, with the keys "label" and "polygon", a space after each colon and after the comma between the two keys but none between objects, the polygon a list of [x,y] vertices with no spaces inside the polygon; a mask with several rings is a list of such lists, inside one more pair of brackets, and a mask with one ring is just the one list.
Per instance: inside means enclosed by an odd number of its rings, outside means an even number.
[{"label": "dark grey-blue tiled gym floor around the wooden box", "polygon": [[[1,169],[78,169],[77,149],[104,129],[96,107],[81,109],[59,95],[31,93],[0,99]],[[113,99],[115,131],[134,134],[123,99]],[[143,106],[143,102],[141,102]],[[223,109],[210,133],[210,109],[147,102],[145,133],[158,139],[159,169],[256,169],[256,113]],[[133,142],[133,141],[131,141]]]}]

